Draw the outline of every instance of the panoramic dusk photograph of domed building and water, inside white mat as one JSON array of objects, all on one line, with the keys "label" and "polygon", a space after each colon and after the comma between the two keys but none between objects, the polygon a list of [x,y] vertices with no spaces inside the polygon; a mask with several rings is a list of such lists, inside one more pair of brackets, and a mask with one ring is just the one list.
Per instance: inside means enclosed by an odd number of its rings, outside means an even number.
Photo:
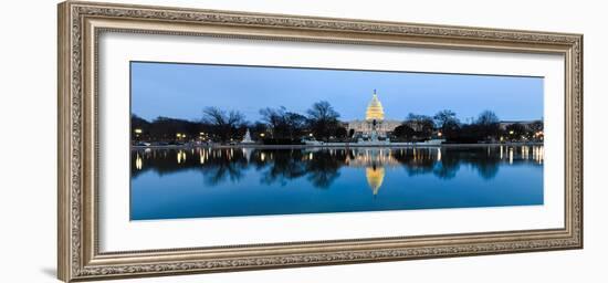
[{"label": "panoramic dusk photograph of domed building and water, inside white mat", "polygon": [[130,62],[130,220],[544,203],[537,76]]}]

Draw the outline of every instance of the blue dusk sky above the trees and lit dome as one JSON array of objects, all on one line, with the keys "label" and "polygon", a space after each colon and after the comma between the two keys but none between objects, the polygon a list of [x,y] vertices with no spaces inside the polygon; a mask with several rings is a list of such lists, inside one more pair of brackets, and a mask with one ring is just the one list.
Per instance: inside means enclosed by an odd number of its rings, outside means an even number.
[{"label": "blue dusk sky above the trees and lit dome", "polygon": [[502,120],[543,118],[542,77],[132,62],[132,113],[148,120],[199,120],[216,106],[255,122],[261,108],[305,114],[318,101],[342,120],[363,119],[374,90],[387,119],[441,109],[465,123],[484,109]]}]

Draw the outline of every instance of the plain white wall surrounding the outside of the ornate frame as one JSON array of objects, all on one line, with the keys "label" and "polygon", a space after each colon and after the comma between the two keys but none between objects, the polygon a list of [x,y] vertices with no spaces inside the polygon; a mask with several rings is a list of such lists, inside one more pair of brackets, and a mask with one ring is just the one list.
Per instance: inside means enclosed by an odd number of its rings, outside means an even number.
[{"label": "plain white wall surrounding the outside of the ornate frame", "polygon": [[[124,0],[111,0],[125,2]],[[161,1],[132,3],[585,34],[585,249],[124,282],[606,282],[608,25],[602,1]],[[57,282],[56,1],[7,1],[0,17],[0,282]],[[602,80],[604,78],[604,80]],[[604,256],[602,256],[604,255]]]}]

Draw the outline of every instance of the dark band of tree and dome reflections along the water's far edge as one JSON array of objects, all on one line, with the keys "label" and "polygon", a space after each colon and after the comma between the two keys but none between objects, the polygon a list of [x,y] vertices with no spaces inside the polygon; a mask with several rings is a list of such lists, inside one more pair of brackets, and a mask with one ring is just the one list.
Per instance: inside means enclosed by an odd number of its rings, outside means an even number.
[{"label": "dark band of tree and dome reflections along the water's far edge", "polygon": [[502,165],[544,161],[543,146],[443,146],[402,148],[188,148],[132,150],[132,178],[144,171],[159,175],[199,170],[205,182],[216,186],[238,182],[245,170],[261,172],[261,184],[286,186],[305,178],[314,187],[327,189],[340,176],[340,168],[361,168],[368,186],[377,193],[385,167],[402,167],[409,176],[428,175],[440,179],[457,176],[462,166],[480,177],[494,178]]}]

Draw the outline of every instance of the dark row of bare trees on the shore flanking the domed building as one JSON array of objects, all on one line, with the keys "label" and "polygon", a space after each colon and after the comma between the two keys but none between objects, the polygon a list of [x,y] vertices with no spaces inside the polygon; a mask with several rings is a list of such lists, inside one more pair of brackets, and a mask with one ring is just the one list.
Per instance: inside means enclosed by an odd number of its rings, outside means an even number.
[{"label": "dark row of bare trees on the shore flanking the domed building", "polygon": [[[253,139],[275,144],[300,143],[303,137],[325,142],[348,140],[353,136],[353,133],[347,133],[345,123],[339,120],[339,114],[325,101],[314,103],[305,114],[285,107],[266,107],[260,109],[260,120],[248,123],[238,111],[207,107],[199,122],[158,117],[150,123],[134,115],[132,128],[138,129],[138,133],[134,132],[134,140],[184,142],[203,138],[224,144],[240,140],[248,128]],[[461,123],[454,112],[444,109],[434,116],[409,114],[390,137],[411,142],[440,136],[453,143],[479,143],[500,137],[509,140],[534,139],[538,138],[536,133],[542,129],[542,120],[526,126],[514,123],[506,128],[501,127],[499,117],[491,111],[480,113],[476,119],[468,124]]]}]

